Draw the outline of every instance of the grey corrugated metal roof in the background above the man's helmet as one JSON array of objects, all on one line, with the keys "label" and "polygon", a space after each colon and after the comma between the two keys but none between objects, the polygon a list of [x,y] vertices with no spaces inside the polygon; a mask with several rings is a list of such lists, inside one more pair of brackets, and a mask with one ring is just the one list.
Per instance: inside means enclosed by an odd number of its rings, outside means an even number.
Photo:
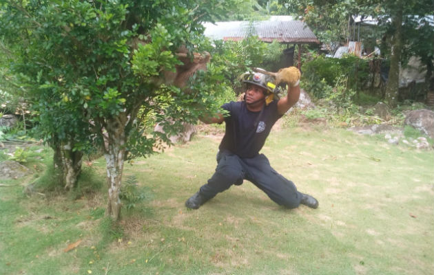
[{"label": "grey corrugated metal roof in the background above the man's helmet", "polygon": [[230,21],[205,23],[205,35],[211,39],[239,41],[247,34],[253,34],[265,42],[274,40],[280,43],[320,43],[315,34],[302,21]]}]

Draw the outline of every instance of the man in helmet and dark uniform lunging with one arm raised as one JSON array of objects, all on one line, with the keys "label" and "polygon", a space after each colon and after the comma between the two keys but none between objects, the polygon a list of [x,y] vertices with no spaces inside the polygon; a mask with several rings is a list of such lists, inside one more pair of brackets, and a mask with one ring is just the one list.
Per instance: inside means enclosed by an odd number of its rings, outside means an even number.
[{"label": "man in helmet and dark uniform lunging with one arm raised", "polygon": [[300,97],[298,69],[295,74],[286,81],[289,86],[287,96],[279,100],[273,98],[275,85],[271,76],[259,72],[249,74],[249,78],[244,80],[247,84],[245,99],[222,106],[229,115],[218,113],[212,118],[201,119],[207,124],[225,121],[226,130],[217,154],[216,172],[207,184],[187,199],[187,208],[198,209],[219,192],[234,184],[242,184],[244,179],[251,181],[279,205],[297,208],[302,203],[318,208],[315,198],[298,192],[293,182],[278,174],[271,168],[267,157],[259,153],[273,124]]}]

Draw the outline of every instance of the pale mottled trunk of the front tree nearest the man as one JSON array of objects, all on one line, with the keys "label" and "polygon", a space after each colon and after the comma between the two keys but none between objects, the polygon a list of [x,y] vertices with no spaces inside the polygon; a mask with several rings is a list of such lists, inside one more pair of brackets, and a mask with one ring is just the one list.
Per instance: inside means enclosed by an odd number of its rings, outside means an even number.
[{"label": "pale mottled trunk of the front tree nearest the man", "polygon": [[108,203],[107,216],[115,221],[121,218],[121,179],[123,162],[125,159],[125,125],[127,118],[119,115],[117,118],[107,120],[105,142],[105,163],[107,166]]}]

